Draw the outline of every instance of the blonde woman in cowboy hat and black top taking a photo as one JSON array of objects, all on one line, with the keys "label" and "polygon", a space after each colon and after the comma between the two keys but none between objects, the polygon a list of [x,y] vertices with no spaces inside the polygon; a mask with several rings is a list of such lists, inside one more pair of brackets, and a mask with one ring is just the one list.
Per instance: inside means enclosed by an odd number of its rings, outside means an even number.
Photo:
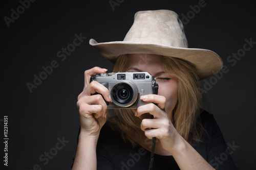
[{"label": "blonde woman in cowboy hat and black top taking a photo", "polygon": [[115,63],[113,72],[149,72],[159,89],[140,97],[150,104],[114,110],[106,123],[110,92],[90,78],[107,70],[87,70],[77,102],[81,130],[73,169],[146,169],[153,137],[153,169],[236,169],[229,155],[220,159],[227,152],[224,138],[213,116],[200,109],[199,80],[218,72],[222,61],[214,52],[187,48],[175,12],[137,12],[123,41],[90,44]]}]

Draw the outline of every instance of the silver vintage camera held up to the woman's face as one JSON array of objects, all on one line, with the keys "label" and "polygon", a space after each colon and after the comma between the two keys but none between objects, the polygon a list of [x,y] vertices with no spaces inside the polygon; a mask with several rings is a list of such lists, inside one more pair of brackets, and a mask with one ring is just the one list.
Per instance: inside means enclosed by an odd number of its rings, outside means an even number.
[{"label": "silver vintage camera held up to the woman's face", "polygon": [[106,102],[108,109],[136,109],[148,104],[141,95],[157,94],[158,84],[148,72],[110,72],[91,77],[109,89],[113,103]]}]

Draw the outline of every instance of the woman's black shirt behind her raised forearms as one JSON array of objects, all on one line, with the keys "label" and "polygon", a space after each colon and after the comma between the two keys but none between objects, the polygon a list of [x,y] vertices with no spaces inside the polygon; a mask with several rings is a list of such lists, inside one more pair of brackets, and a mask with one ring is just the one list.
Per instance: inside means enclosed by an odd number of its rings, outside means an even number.
[{"label": "woman's black shirt behind her raised forearms", "polygon": [[[193,145],[194,149],[216,169],[237,169],[230,157],[237,146],[234,143],[226,145],[212,114],[203,111],[201,118],[206,132],[202,135],[202,142]],[[150,156],[150,151],[142,147],[132,148],[131,144],[125,143],[118,131],[111,129],[109,122],[102,127],[97,143],[97,169],[146,170]],[[153,170],[180,169],[173,156],[155,154],[154,157]]]}]

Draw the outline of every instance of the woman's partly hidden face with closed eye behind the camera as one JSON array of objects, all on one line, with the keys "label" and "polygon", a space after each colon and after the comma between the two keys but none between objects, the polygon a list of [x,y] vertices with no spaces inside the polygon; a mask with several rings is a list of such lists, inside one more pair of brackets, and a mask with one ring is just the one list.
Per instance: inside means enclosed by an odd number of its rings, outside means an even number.
[{"label": "woman's partly hidden face with closed eye behind the camera", "polygon": [[178,80],[170,72],[164,72],[162,60],[159,55],[128,54],[126,71],[148,72],[156,78],[159,85],[158,95],[166,98],[165,111],[171,118],[172,111],[178,100]]}]

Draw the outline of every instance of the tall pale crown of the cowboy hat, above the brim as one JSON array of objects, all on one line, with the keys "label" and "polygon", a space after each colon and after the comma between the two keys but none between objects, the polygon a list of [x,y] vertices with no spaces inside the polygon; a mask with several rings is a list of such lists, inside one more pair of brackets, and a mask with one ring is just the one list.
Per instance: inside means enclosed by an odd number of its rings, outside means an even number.
[{"label": "tall pale crown of the cowboy hat, above the brim", "polygon": [[174,11],[139,11],[123,41],[187,48],[181,20]]}]

